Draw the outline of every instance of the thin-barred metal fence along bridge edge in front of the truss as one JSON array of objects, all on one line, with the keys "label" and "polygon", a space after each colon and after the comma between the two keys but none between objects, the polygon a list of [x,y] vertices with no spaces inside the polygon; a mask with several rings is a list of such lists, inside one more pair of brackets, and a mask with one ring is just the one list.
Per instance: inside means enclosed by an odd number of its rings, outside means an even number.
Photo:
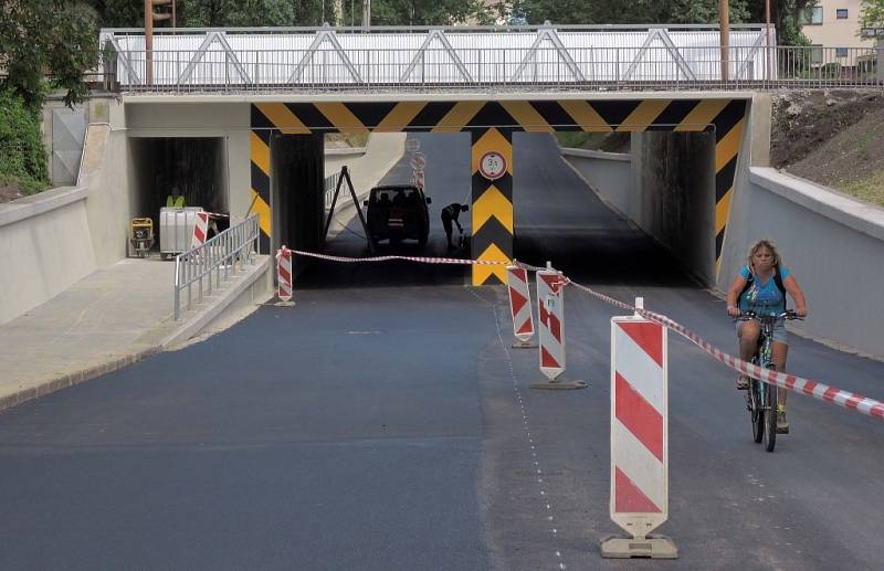
[{"label": "thin-barred metal fence along bridge edge in front of the truss", "polygon": [[[119,53],[130,93],[424,93],[883,87],[883,47],[718,46],[206,50]],[[726,68],[726,71],[725,71]]]}]

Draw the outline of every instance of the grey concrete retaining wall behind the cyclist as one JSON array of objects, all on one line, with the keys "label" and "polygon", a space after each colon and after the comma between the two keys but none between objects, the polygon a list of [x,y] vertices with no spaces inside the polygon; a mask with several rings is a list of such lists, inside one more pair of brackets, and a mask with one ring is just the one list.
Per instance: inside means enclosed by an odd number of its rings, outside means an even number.
[{"label": "grey concrete retaining wall behind the cyclist", "polygon": [[884,358],[884,210],[771,168],[751,167],[739,181],[722,252],[725,292],[749,245],[772,239],[808,298],[796,328]]}]

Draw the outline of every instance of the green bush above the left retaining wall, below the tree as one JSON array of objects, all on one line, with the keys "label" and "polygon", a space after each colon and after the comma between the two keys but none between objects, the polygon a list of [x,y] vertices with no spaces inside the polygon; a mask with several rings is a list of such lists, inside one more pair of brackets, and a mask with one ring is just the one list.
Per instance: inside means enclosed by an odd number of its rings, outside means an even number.
[{"label": "green bush above the left retaining wall, below the tree", "polygon": [[24,194],[49,187],[39,112],[9,89],[0,91],[0,181],[20,186]]}]

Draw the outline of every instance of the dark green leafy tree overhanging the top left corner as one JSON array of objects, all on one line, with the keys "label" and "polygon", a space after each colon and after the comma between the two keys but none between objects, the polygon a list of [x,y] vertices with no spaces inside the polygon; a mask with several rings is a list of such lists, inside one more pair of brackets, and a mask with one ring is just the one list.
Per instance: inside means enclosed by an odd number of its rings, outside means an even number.
[{"label": "dark green leafy tree overhanging the top left corner", "polygon": [[[46,86],[66,89],[71,106],[88,94],[83,72],[98,63],[94,10],[85,3],[62,0],[4,0],[0,2],[1,86],[39,108]],[[49,76],[49,81],[46,81]]]}]

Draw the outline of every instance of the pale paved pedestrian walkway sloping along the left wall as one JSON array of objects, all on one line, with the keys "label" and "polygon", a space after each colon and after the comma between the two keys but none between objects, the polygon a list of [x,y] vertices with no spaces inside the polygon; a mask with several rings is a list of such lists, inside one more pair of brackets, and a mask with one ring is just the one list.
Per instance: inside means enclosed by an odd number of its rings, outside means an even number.
[{"label": "pale paved pedestrian walkway sloping along the left wall", "polygon": [[259,256],[178,321],[172,318],[173,262],[123,260],[93,272],[0,326],[0,410],[186,341],[270,266],[269,256]]}]

